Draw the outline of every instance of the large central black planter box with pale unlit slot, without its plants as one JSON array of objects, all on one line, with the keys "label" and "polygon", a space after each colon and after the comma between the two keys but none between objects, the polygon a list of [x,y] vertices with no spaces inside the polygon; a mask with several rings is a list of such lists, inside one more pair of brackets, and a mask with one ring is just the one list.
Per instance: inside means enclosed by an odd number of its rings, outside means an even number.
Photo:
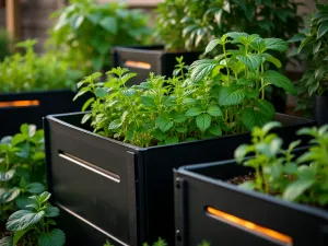
[{"label": "large central black planter box with pale unlit slot, without its plants", "polygon": [[[173,169],[232,159],[250,139],[239,134],[138,148],[92,133],[80,125],[82,116],[45,118],[48,186],[52,201],[63,210],[59,223],[68,246],[102,245],[105,238],[137,246],[159,236],[173,245]],[[314,124],[286,115],[277,119],[286,126],[280,129],[286,142],[295,139],[295,129]]]}]

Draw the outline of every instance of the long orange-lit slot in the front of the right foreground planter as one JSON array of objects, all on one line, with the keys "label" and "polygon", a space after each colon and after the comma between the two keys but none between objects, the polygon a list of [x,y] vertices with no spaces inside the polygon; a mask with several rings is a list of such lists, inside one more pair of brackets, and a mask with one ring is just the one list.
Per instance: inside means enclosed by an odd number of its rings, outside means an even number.
[{"label": "long orange-lit slot in the front of the right foreground planter", "polygon": [[249,233],[256,234],[267,239],[271,239],[281,246],[293,246],[293,239],[289,235],[282,234],[271,229],[263,227],[250,221],[243,220],[230,213],[206,207],[207,215],[233,226],[239,227]]}]

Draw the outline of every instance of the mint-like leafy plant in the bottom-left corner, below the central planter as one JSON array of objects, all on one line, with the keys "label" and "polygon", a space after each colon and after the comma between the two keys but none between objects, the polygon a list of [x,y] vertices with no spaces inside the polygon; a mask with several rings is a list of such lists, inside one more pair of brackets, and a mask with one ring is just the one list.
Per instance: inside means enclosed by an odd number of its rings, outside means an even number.
[{"label": "mint-like leafy plant in the bottom-left corner, below the central planter", "polygon": [[49,203],[50,196],[47,191],[34,195],[30,197],[24,210],[9,216],[7,229],[13,232],[13,237],[5,238],[8,245],[17,243],[24,246],[65,245],[65,233],[60,229],[54,229],[56,222],[52,218],[59,215],[59,209]]}]

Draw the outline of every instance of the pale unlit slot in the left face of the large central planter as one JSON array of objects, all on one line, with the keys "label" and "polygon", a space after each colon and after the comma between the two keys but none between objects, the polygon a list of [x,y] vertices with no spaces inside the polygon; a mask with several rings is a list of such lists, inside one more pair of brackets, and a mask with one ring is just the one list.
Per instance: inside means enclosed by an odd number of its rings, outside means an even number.
[{"label": "pale unlit slot in the left face of the large central planter", "polygon": [[94,165],[94,164],[92,164],[90,162],[81,160],[81,159],[79,159],[79,157],[77,157],[74,155],[68,154],[68,153],[66,153],[63,151],[58,151],[58,155],[59,155],[59,157],[62,157],[62,159],[65,159],[65,160],[67,160],[69,162],[72,162],[72,163],[74,163],[74,164],[77,164],[77,165],[79,165],[79,166],[81,166],[81,167],[83,167],[85,169],[89,169],[89,171],[94,172],[94,173],[96,173],[98,175],[102,175],[103,177],[106,177],[106,178],[108,178],[108,179],[110,179],[110,180],[113,180],[115,183],[120,183],[120,176],[117,175],[117,174],[114,174],[114,173],[112,173],[112,172],[109,172],[107,169],[98,167],[98,166],[96,166],[96,165]]}]

